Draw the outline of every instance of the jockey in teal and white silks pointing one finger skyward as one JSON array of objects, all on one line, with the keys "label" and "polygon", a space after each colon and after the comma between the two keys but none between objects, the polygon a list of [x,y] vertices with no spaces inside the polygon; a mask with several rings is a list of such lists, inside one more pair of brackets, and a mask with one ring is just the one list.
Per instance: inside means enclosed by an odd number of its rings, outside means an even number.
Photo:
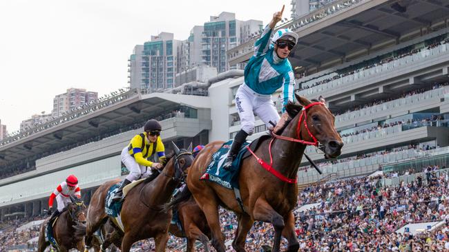
[{"label": "jockey in teal and white silks pointing one finger skyward", "polygon": [[271,127],[269,122],[277,123],[280,116],[271,100],[271,94],[283,87],[283,112],[288,101],[294,101],[294,73],[287,56],[292,52],[298,34],[289,29],[273,32],[276,23],[282,19],[284,7],[273,15],[273,19],[265,27],[260,39],[254,43],[254,55],[245,67],[245,83],[240,85],[236,93],[236,107],[240,116],[240,132],[236,134],[225,164],[231,169],[242,143],[247,136],[254,133],[254,114]]}]

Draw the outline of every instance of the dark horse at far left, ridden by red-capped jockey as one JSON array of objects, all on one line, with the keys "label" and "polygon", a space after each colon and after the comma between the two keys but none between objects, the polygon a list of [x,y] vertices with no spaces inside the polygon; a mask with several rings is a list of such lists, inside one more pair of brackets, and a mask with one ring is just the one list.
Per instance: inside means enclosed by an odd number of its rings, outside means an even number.
[{"label": "dark horse at far left, ridden by red-capped jockey", "polygon": [[[59,246],[59,251],[69,251],[70,249],[77,249],[83,251],[84,240],[83,236],[75,235],[79,226],[83,227],[86,222],[86,204],[79,198],[70,196],[72,202],[68,203],[67,211],[62,212],[53,226],[53,236]],[[39,231],[39,246],[37,251],[44,252],[50,242],[45,240],[45,232],[48,220],[41,224]]]}]

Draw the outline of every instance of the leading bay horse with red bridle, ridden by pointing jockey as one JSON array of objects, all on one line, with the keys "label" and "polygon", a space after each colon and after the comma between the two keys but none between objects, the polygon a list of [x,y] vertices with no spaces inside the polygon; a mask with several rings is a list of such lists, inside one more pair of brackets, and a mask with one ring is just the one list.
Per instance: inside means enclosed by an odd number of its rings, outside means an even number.
[{"label": "leading bay horse with red bridle, ridden by pointing jockey", "polygon": [[[263,141],[255,152],[257,159],[251,156],[242,161],[238,182],[245,211],[240,209],[233,191],[199,179],[211,162],[212,154],[218,151],[223,142],[216,141],[206,145],[190,167],[187,185],[206,215],[212,231],[212,245],[217,251],[225,251],[218,205],[234,211],[238,216],[238,228],[232,243],[236,251],[245,251],[247,233],[255,220],[273,224],[274,252],[280,250],[281,235],[288,240],[288,251],[298,251],[292,209],[298,202],[296,174],[305,147],[321,143],[325,157],[336,158],[341,154],[343,142],[334,127],[334,116],[324,103],[312,103],[297,95],[296,99],[299,105],[286,105],[287,113],[292,119],[278,132],[280,136],[273,134],[274,138]],[[272,167],[264,164],[265,167],[262,168],[260,162],[271,158]],[[274,171],[268,171],[269,169]]]}]

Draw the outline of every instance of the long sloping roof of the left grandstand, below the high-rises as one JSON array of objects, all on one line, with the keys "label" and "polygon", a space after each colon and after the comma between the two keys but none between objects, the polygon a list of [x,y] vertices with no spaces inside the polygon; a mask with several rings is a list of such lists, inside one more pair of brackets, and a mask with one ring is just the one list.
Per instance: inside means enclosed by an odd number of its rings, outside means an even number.
[{"label": "long sloping roof of the left grandstand, below the high-rises", "polygon": [[68,118],[30,136],[0,146],[0,165],[78,143],[117,126],[133,125],[136,118],[153,118],[180,105],[201,108],[209,107],[209,104],[207,96],[135,93],[113,104]]}]

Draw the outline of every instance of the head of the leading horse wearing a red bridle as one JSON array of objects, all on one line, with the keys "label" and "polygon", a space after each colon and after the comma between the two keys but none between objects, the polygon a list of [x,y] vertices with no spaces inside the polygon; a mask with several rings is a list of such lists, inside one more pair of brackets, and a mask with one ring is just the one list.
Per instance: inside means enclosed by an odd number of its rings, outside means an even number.
[{"label": "head of the leading horse wearing a red bridle", "polygon": [[285,107],[292,117],[291,123],[296,123],[294,138],[307,141],[309,145],[321,143],[325,158],[336,158],[341,154],[343,141],[334,127],[335,116],[327,109],[323,100],[309,101],[303,96],[295,94],[296,103],[289,103]]}]

